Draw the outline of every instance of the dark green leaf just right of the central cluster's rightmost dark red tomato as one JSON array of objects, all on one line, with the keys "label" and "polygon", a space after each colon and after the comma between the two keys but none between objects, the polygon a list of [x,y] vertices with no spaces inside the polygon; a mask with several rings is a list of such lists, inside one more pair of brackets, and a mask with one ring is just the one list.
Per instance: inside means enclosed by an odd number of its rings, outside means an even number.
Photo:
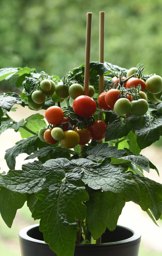
[{"label": "dark green leaf just right of the central cluster's rightmost dark red tomato", "polygon": [[105,141],[120,139],[124,136],[127,136],[131,129],[132,127],[128,118],[122,120],[120,118],[116,119],[111,124],[108,124]]}]

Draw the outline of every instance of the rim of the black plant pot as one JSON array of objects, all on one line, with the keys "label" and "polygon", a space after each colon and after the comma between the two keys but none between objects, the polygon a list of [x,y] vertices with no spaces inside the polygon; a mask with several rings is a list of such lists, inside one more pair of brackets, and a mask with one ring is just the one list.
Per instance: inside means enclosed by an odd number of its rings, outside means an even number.
[{"label": "rim of the black plant pot", "polygon": [[[32,238],[30,236],[28,236],[27,232],[30,230],[30,229],[33,229],[35,227],[38,227],[39,224],[34,224],[34,225],[31,225],[31,226],[27,226],[23,229],[21,229],[19,231],[19,237],[23,240],[26,240],[26,241],[29,241],[29,242],[36,242],[36,243],[39,243],[39,244],[47,244],[46,242],[42,241],[42,240],[38,240],[38,239],[35,239],[35,238]],[[116,242],[109,242],[109,243],[101,243],[101,244],[76,244],[75,246],[101,246],[101,245],[113,245],[113,244],[124,244],[124,243],[129,243],[129,242],[132,242],[132,241],[136,241],[138,239],[141,238],[141,234],[139,231],[137,230],[134,230],[134,228],[129,228],[129,227],[126,227],[126,226],[121,226],[121,225],[117,225],[118,227],[123,227],[129,231],[131,231],[133,233],[133,235],[130,237],[130,238],[127,238],[127,239],[124,239],[124,240],[120,240],[120,241],[116,241]]]}]

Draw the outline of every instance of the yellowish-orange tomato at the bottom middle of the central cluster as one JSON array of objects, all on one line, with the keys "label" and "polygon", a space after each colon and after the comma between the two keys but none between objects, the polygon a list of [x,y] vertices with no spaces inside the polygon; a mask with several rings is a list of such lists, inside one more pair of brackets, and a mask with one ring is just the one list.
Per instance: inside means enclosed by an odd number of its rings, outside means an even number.
[{"label": "yellowish-orange tomato at the bottom middle of the central cluster", "polygon": [[76,131],[68,130],[64,131],[63,137],[60,140],[60,144],[65,148],[74,148],[78,145],[79,140],[80,137]]}]

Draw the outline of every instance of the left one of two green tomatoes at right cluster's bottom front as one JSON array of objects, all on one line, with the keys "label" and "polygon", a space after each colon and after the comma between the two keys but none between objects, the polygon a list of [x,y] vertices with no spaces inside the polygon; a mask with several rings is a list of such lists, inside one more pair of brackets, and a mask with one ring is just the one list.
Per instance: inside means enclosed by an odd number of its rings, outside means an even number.
[{"label": "left one of two green tomatoes at right cluster's bottom front", "polygon": [[119,116],[125,116],[130,112],[131,104],[130,100],[126,98],[118,99],[114,104],[114,111]]}]

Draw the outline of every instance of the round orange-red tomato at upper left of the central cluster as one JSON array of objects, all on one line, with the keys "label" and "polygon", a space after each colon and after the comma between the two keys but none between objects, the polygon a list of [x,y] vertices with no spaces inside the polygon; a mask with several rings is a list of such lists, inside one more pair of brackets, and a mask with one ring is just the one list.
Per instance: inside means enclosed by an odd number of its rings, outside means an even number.
[{"label": "round orange-red tomato at upper left of the central cluster", "polygon": [[52,125],[60,124],[64,118],[64,112],[59,106],[50,106],[46,110],[44,117]]}]

